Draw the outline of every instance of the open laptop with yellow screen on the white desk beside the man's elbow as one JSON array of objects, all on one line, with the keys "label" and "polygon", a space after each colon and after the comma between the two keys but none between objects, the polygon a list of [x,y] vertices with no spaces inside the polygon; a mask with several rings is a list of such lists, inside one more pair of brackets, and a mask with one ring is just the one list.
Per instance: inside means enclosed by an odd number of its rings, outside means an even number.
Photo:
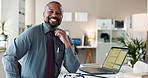
[{"label": "open laptop with yellow screen on the white desk beside the man's elbow", "polygon": [[86,66],[79,70],[89,74],[116,74],[119,72],[127,56],[129,49],[122,47],[112,47],[102,65],[102,67]]}]

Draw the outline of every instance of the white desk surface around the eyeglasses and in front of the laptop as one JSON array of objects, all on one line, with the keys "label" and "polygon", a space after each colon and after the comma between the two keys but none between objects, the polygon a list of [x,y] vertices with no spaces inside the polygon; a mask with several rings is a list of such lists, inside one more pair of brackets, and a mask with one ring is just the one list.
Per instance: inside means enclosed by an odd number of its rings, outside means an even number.
[{"label": "white desk surface around the eyeglasses and in front of the laptop", "polygon": [[[121,70],[119,73],[117,74],[106,74],[106,75],[98,75],[98,76],[103,76],[103,77],[107,77],[107,78],[116,78],[117,76],[119,78],[124,78],[124,77],[121,77],[124,75],[124,73],[127,73],[127,72],[132,72],[132,68],[129,67],[129,66],[122,66],[121,67]],[[82,73],[82,74],[85,74],[84,72],[78,70],[77,73]],[[59,75],[58,78],[64,78],[64,75],[66,74],[69,74],[64,67],[62,67],[62,71],[61,71],[61,74]],[[74,74],[74,73],[73,73]],[[72,77],[71,77],[72,78]],[[94,77],[94,76],[85,76],[85,78],[98,78],[98,77]]]}]

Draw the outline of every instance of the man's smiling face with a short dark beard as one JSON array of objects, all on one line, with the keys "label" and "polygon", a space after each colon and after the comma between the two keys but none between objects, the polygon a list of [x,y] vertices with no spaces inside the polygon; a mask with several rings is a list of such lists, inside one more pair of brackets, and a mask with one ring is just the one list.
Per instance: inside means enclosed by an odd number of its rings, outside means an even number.
[{"label": "man's smiling face with a short dark beard", "polygon": [[43,13],[44,21],[50,24],[51,28],[56,28],[61,24],[63,18],[62,7],[56,3],[50,3]]}]

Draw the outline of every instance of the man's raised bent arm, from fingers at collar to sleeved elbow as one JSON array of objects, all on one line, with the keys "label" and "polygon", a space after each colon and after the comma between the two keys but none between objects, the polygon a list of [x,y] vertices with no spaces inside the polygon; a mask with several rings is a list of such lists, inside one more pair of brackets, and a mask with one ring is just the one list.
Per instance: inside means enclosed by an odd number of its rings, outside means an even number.
[{"label": "man's raised bent arm, from fingers at collar to sleeved elbow", "polygon": [[64,55],[65,68],[67,69],[68,72],[75,73],[80,66],[80,61],[78,59],[78,55],[75,52],[71,39],[66,35],[66,32],[62,29],[56,30],[55,36],[58,36],[65,45],[65,55]]}]

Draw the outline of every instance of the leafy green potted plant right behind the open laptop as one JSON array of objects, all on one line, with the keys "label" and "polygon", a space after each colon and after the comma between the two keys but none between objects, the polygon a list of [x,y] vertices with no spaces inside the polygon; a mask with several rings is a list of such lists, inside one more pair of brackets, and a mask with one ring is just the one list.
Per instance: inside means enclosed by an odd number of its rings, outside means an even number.
[{"label": "leafy green potted plant right behind the open laptop", "polygon": [[119,37],[118,41],[130,49],[128,52],[128,57],[130,57],[130,63],[132,67],[138,60],[145,60],[146,41],[138,38],[133,38],[128,33],[122,37]]}]

